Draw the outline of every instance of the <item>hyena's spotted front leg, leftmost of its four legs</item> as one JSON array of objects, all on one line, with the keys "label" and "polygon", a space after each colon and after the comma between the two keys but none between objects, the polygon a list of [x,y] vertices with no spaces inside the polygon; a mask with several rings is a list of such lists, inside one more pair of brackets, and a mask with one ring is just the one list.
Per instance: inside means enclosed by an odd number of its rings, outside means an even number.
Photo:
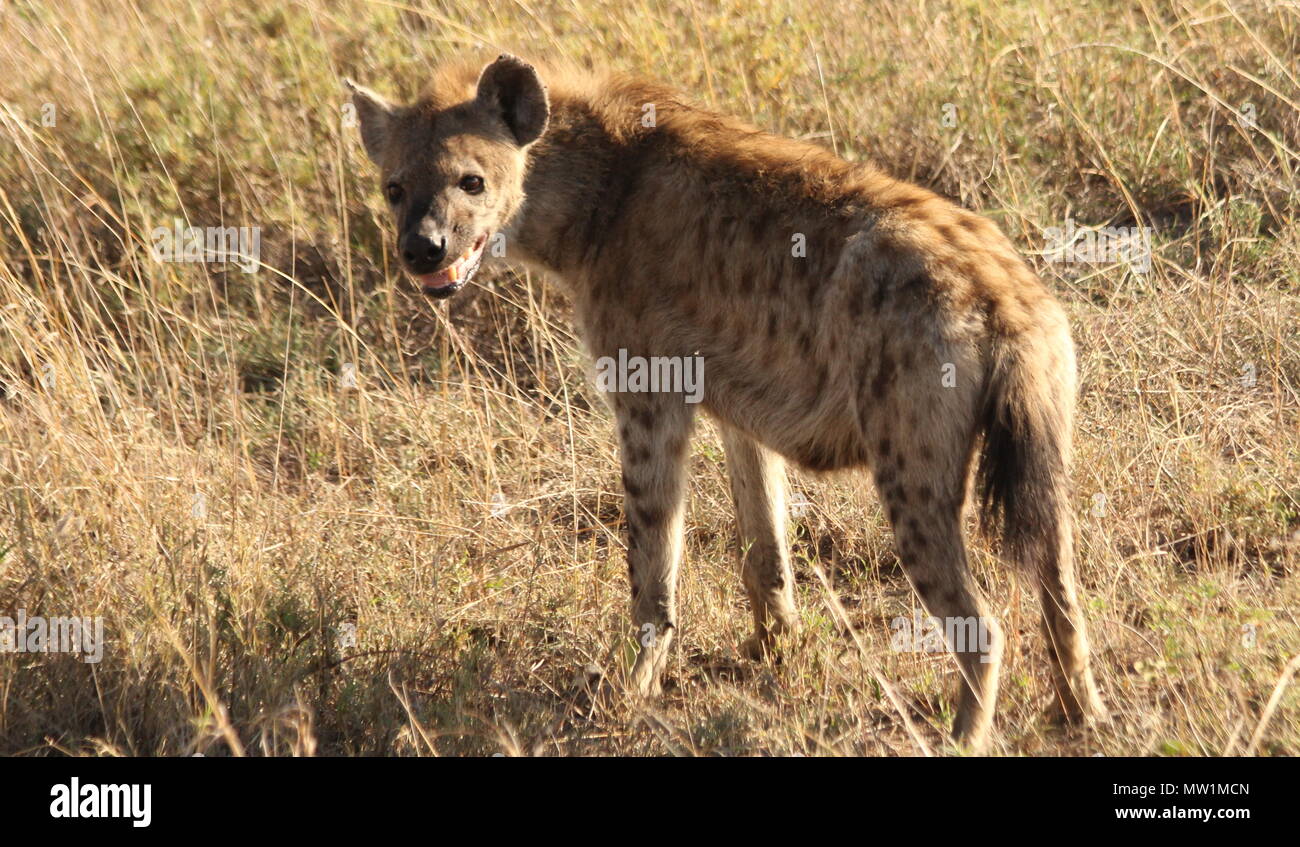
[{"label": "hyena's spotted front leg, leftmost of its four legs", "polygon": [[615,395],[628,522],[632,624],[640,646],[632,691],[659,694],[677,625],[684,477],[694,407],[680,394]]}]

